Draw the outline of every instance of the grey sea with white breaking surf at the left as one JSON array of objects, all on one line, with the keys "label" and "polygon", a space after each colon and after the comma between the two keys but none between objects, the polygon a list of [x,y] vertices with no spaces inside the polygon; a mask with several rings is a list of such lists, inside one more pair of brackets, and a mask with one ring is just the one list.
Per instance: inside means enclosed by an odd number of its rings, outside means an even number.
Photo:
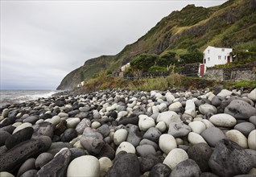
[{"label": "grey sea with white breaking surf at the left", "polygon": [[57,90],[0,90],[0,108],[3,105],[37,100],[40,97],[51,97]]}]

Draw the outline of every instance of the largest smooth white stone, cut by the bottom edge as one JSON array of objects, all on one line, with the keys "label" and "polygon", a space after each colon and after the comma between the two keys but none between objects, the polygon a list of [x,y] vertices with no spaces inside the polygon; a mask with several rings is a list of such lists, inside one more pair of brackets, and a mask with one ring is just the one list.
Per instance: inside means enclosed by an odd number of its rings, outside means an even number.
[{"label": "largest smooth white stone, cut by the bottom edge", "polygon": [[93,155],[83,155],[75,158],[68,165],[67,176],[100,176],[99,160]]}]

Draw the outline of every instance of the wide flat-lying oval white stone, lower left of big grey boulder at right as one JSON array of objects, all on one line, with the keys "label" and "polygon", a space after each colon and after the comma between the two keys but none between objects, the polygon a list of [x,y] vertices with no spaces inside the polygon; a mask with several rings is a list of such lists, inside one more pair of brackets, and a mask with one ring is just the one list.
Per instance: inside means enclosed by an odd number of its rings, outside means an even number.
[{"label": "wide flat-lying oval white stone, lower left of big grey boulder at right", "polygon": [[237,120],[235,117],[227,113],[218,113],[210,117],[209,121],[213,123],[214,126],[224,126],[233,127],[236,125]]}]

